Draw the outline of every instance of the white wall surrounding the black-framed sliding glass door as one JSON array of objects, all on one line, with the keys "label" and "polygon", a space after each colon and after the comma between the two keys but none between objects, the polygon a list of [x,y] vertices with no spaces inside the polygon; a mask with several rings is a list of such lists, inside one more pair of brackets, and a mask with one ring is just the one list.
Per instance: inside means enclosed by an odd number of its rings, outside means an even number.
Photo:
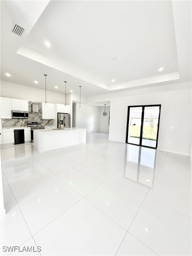
[{"label": "white wall surrounding the black-framed sliding glass door", "polygon": [[[87,98],[111,101],[109,139],[126,140],[128,106],[161,104],[158,149],[189,155],[191,140],[191,82],[123,91]],[[184,120],[183,122],[181,120]],[[170,126],[174,129],[171,130]],[[170,145],[168,144],[170,142]]]}]

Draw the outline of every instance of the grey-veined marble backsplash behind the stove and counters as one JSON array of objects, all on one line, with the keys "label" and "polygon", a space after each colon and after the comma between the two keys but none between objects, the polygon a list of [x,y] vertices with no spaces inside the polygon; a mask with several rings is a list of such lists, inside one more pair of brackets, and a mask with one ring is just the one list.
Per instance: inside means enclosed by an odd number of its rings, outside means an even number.
[{"label": "grey-veined marble backsplash behind the stove and counters", "polygon": [[[4,121],[2,122],[2,127],[24,127],[24,126],[27,126],[27,122],[41,122],[43,126],[54,125],[54,119],[42,119],[40,102],[29,101],[28,103],[29,103],[29,119],[22,119],[22,118],[2,119],[2,121]],[[39,105],[39,113],[31,113],[31,104]]]}]

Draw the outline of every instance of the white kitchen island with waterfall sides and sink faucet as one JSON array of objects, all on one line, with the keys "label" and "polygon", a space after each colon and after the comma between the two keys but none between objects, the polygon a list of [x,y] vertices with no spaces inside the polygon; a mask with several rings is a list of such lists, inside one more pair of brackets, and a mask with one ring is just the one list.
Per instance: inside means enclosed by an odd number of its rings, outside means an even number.
[{"label": "white kitchen island with waterfall sides and sink faucet", "polygon": [[65,128],[36,129],[33,131],[34,149],[43,153],[48,150],[86,143],[86,129]]}]

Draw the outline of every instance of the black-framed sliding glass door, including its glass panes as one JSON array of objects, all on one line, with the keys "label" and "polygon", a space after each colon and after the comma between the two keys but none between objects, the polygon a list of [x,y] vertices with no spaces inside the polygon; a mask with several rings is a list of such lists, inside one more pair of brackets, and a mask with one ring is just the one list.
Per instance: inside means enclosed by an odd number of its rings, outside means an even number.
[{"label": "black-framed sliding glass door, including its glass panes", "polygon": [[126,143],[157,148],[161,105],[129,106]]}]

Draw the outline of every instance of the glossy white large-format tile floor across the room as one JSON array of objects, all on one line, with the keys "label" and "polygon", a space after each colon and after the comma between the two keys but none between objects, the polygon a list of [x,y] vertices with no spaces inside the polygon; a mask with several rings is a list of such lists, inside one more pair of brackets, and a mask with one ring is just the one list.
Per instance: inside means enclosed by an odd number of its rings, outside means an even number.
[{"label": "glossy white large-format tile floor across the room", "polygon": [[187,156],[87,135],[40,154],[1,148],[6,216],[0,255],[191,255]]}]

